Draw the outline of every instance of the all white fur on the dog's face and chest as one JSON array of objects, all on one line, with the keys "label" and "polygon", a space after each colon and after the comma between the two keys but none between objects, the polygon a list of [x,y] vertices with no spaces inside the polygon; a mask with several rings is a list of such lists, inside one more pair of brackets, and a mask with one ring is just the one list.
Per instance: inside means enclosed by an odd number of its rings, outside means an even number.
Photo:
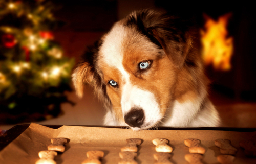
[{"label": "all white fur on the dog's face and chest", "polygon": [[[122,42],[127,36],[127,32],[120,24],[115,24],[112,30],[105,35],[104,42],[100,47],[100,55],[103,61],[119,70],[122,75],[123,86],[121,96],[121,108],[123,117],[127,114],[131,108],[139,107],[144,111],[144,123],[141,129],[150,128],[160,122],[160,126],[172,126],[172,127],[187,127],[187,126],[208,126],[214,127],[219,125],[218,112],[214,106],[207,101],[204,105],[204,109],[201,109],[201,104],[206,93],[198,97],[194,101],[187,101],[185,103],[179,103],[178,101],[170,104],[165,118],[160,112],[160,105],[157,103],[155,96],[152,92],[138,88],[130,82],[130,76],[125,71],[123,62]],[[115,118],[115,114],[111,109],[107,111],[104,118],[104,125],[120,125],[127,126],[126,123],[119,123]],[[134,130],[140,130],[140,128],[133,128]]]}]

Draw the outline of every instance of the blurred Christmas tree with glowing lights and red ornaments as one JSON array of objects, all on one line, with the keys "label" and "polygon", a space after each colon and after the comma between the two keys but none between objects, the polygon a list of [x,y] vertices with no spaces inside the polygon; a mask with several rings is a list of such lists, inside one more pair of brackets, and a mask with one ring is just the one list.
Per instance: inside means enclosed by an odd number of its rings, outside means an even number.
[{"label": "blurred Christmas tree with glowing lights and red ornaments", "polygon": [[1,118],[7,113],[56,116],[68,101],[74,60],[54,41],[54,9],[50,1],[0,1],[0,123],[17,122]]}]

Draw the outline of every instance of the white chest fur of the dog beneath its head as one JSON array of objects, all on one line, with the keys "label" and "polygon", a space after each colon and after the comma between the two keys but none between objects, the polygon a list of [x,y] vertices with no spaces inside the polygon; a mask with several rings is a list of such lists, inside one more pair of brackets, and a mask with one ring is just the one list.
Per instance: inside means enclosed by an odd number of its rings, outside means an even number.
[{"label": "white chest fur of the dog beneath its head", "polygon": [[[199,101],[197,100],[196,102]],[[220,124],[219,114],[209,100],[205,102],[205,106],[202,109],[200,108],[199,103],[193,104],[193,102],[190,101],[181,104],[178,101],[175,101],[174,106],[170,107],[169,111],[173,112],[166,113],[166,118],[164,119],[164,122],[159,124],[159,126],[218,127]],[[156,117],[156,113],[151,112],[150,115],[152,117],[150,116],[149,118],[153,118],[153,122],[159,121],[161,119]],[[115,119],[115,116],[111,113],[110,110],[105,115],[104,125],[127,126],[126,124],[118,123]],[[139,130],[139,128],[131,128],[133,130]]]}]

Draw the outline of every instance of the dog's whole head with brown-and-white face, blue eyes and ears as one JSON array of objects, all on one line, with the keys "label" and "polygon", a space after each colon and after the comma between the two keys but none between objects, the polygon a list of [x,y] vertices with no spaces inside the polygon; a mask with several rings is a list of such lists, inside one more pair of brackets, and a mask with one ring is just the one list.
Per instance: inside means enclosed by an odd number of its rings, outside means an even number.
[{"label": "dog's whole head with brown-and-white face, blue eyes and ears", "polygon": [[187,57],[192,42],[185,21],[152,10],[133,12],[81,57],[73,74],[77,94],[82,97],[84,83],[90,83],[117,125],[154,127],[188,87],[178,86],[178,76],[197,65]]}]

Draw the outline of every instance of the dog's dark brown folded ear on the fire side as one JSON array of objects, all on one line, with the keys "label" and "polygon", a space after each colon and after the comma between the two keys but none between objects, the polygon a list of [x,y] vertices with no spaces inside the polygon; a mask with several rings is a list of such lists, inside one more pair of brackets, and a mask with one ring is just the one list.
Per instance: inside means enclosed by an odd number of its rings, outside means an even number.
[{"label": "dog's dark brown folded ear on the fire side", "polygon": [[134,24],[154,43],[159,45],[176,67],[181,68],[192,44],[191,22],[166,12],[141,10],[130,15],[127,24]]}]

